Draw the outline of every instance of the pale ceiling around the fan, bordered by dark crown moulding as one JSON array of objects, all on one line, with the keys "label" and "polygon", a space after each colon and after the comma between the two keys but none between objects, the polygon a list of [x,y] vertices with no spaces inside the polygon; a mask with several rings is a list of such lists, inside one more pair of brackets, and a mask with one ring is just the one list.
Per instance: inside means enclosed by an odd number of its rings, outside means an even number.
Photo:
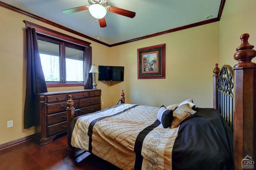
[{"label": "pale ceiling around the fan, bordered by dark crown moulding", "polygon": [[[64,14],[62,10],[89,6],[87,0],[2,0],[2,2],[58,23],[108,45],[149,36],[185,25],[216,19],[223,0],[108,0],[115,6],[136,12],[128,18],[111,12],[101,28],[89,11]],[[212,16],[206,19],[206,16]],[[97,38],[99,37],[99,39]]]}]

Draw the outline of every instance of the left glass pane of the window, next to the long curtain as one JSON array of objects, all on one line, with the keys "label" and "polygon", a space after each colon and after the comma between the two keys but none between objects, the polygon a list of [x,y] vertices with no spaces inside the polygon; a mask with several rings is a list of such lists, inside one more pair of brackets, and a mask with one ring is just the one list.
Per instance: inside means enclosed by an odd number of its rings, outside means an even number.
[{"label": "left glass pane of the window, next to the long curtain", "polygon": [[38,39],[38,48],[46,82],[60,82],[59,46]]}]

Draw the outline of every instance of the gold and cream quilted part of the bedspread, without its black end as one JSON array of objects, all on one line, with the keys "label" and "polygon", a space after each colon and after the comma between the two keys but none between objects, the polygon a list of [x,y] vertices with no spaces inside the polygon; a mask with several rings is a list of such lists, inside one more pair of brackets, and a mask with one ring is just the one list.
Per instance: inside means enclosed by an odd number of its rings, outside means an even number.
[{"label": "gold and cream quilted part of the bedspread, without its black end", "polygon": [[[140,154],[141,150],[142,169],[171,169],[172,147],[178,128],[164,129],[156,121],[158,110],[159,107],[122,104],[79,117],[71,145],[87,150],[123,170],[134,169],[135,152]],[[154,125],[150,131],[141,133],[150,125]]]}]

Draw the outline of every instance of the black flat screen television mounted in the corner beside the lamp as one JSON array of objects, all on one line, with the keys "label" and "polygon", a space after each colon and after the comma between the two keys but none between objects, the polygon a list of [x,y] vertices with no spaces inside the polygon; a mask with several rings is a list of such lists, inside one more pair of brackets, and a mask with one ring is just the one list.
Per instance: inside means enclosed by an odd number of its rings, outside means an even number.
[{"label": "black flat screen television mounted in the corner beside the lamp", "polygon": [[99,81],[124,81],[123,66],[99,66]]}]

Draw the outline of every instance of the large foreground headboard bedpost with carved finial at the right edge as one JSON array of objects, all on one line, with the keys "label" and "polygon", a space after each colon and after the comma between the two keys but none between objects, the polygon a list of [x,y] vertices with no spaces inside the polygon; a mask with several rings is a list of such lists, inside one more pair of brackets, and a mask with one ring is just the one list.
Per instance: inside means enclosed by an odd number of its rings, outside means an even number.
[{"label": "large foreground headboard bedpost with carved finial at the right edge", "polygon": [[247,155],[256,162],[256,63],[252,63],[256,51],[254,46],[248,43],[249,36],[247,33],[241,35],[242,43],[234,54],[234,59],[238,61],[238,64],[234,65],[235,170],[242,169],[242,159]]}]

